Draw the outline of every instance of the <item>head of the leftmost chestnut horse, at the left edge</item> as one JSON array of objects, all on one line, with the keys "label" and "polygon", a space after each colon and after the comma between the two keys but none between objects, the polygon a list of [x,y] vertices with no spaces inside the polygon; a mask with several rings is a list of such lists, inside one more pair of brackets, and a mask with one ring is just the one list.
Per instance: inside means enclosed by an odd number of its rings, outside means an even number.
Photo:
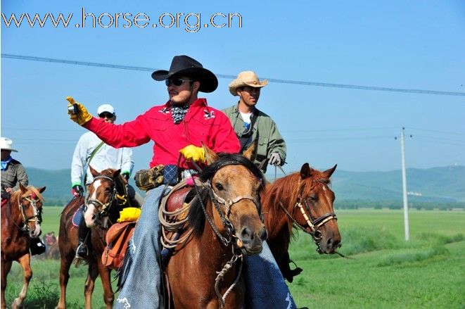
[{"label": "head of the leftmost chestnut horse, at the left edge", "polygon": [[11,198],[18,201],[21,220],[24,232],[27,232],[30,238],[37,238],[42,233],[40,224],[42,223],[42,206],[44,198],[42,192],[45,187],[36,189],[32,186],[24,187],[20,183],[20,190],[16,191]]}]

